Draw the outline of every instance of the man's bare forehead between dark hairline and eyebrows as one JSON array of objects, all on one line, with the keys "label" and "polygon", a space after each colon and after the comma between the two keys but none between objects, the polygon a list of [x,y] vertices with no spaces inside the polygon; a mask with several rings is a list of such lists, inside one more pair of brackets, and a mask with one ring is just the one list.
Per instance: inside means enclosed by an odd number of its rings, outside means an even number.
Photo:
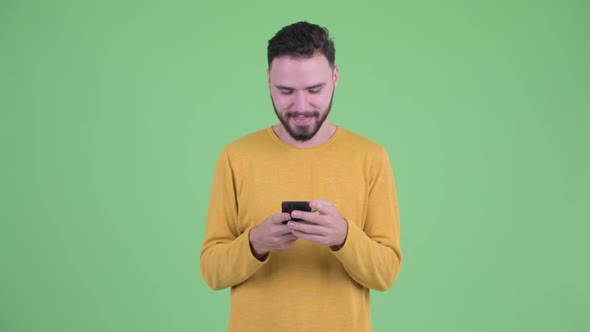
[{"label": "man's bare forehead between dark hairline and eyebrows", "polygon": [[316,53],[311,58],[281,56],[275,58],[269,70],[273,84],[297,87],[330,80],[332,67],[323,54]]}]

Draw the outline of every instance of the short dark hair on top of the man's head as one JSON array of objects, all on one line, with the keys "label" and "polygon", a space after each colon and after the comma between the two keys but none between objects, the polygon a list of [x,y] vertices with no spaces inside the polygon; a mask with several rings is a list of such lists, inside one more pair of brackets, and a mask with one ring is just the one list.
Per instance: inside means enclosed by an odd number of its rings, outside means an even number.
[{"label": "short dark hair on top of the man's head", "polygon": [[323,54],[334,67],[336,49],[328,29],[317,24],[297,22],[283,27],[268,41],[268,67],[274,58],[287,55],[293,58],[311,58],[315,52]]}]

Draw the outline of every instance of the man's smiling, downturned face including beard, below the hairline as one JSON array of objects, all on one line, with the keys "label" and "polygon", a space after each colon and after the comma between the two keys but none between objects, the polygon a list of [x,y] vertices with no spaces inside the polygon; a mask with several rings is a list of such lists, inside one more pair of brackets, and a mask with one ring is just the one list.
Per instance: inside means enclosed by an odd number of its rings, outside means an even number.
[{"label": "man's smiling, downturned face including beard, below the hairline", "polygon": [[338,84],[338,67],[320,53],[311,58],[282,56],[272,61],[268,84],[281,124],[297,141],[307,141],[330,113]]}]

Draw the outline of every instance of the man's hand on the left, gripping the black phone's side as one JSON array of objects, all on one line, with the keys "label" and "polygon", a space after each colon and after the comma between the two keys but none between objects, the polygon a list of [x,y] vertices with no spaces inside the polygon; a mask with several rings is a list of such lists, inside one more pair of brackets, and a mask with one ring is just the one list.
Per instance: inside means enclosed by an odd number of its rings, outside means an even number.
[{"label": "man's hand on the left, gripping the black phone's side", "polygon": [[277,212],[250,230],[250,248],[256,258],[264,260],[270,251],[287,250],[297,240],[291,229],[283,224],[290,219],[289,213]]}]

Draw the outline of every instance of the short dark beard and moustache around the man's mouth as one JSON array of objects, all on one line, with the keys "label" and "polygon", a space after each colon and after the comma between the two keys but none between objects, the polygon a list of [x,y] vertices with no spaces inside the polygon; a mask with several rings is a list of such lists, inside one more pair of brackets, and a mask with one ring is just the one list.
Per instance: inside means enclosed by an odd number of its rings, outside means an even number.
[{"label": "short dark beard and moustache around the man's mouth", "polygon": [[[280,115],[275,106],[275,102],[272,99],[272,95],[270,96],[270,100],[272,101],[272,107],[274,108],[275,114],[279,118],[279,121],[281,121],[281,124],[283,125],[283,127],[285,127],[287,133],[289,133],[291,138],[299,142],[309,141],[315,136],[315,134],[317,134],[317,132],[324,124],[324,121],[326,121],[326,119],[328,118],[330,111],[332,110],[333,98],[334,91],[332,91],[332,96],[330,97],[330,104],[328,104],[328,108],[323,114],[321,114],[318,110],[313,110],[304,112],[287,111],[284,113],[284,115]],[[292,122],[289,120],[297,116],[313,117],[313,120],[311,121],[311,123],[303,126],[299,126],[297,124],[290,125],[290,123]]]}]

